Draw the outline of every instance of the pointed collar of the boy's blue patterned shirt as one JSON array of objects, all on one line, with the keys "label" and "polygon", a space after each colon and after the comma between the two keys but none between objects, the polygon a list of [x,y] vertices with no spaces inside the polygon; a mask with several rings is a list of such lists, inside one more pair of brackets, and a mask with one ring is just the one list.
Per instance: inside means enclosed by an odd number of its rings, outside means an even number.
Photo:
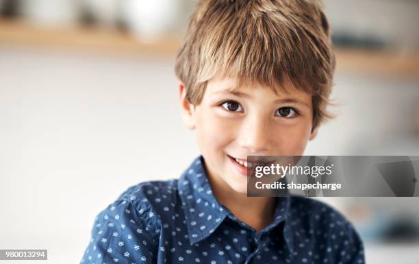
[{"label": "pointed collar of the boy's blue patterned shirt", "polygon": [[[191,244],[210,236],[227,215],[231,219],[237,220],[229,209],[222,204],[218,204],[216,197],[214,197],[210,182],[208,182],[207,172],[205,171],[203,156],[193,160],[188,169],[179,178],[177,185],[186,216],[186,226]],[[292,245],[294,239],[289,212],[290,197],[277,197],[274,221],[264,228],[264,232],[269,232],[282,221],[285,221],[283,236],[288,250],[290,250],[290,255],[293,256]]]}]

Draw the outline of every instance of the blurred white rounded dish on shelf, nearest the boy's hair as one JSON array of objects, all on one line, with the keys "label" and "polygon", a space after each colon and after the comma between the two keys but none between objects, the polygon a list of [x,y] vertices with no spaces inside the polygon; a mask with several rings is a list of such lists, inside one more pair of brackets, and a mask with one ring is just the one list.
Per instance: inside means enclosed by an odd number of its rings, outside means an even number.
[{"label": "blurred white rounded dish on shelf, nearest the boy's hair", "polygon": [[123,0],[122,14],[134,37],[153,42],[173,29],[179,15],[178,0]]}]

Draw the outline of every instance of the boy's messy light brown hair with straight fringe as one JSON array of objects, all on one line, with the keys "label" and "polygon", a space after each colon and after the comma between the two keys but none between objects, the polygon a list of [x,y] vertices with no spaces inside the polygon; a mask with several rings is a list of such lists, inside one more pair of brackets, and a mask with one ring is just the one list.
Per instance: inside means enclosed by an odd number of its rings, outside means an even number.
[{"label": "boy's messy light brown hair with straight fringe", "polygon": [[312,95],[313,129],[332,116],[326,108],[335,56],[329,22],[316,0],[201,0],[177,54],[175,73],[191,104],[208,80],[237,77],[236,87],[285,84]]}]

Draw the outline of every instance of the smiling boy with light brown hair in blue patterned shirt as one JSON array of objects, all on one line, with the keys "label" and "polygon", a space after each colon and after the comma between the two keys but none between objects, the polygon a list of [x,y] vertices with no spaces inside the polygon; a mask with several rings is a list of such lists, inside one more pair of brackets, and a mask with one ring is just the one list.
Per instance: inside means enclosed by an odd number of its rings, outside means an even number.
[{"label": "smiling boy with light brown hair in blue patterned shirt", "polygon": [[314,139],[333,69],[317,1],[200,1],[175,71],[202,155],[99,213],[81,263],[364,263],[329,206],[246,195],[246,156],[298,156]]}]

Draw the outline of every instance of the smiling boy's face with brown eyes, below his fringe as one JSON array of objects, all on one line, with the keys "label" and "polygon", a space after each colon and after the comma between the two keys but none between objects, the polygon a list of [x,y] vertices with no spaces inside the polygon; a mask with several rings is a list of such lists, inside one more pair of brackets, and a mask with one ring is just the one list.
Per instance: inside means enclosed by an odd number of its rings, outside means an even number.
[{"label": "smiling boy's face with brown eyes, below his fringe", "polygon": [[[303,155],[312,132],[312,97],[296,91],[275,93],[265,86],[243,87],[233,93],[234,79],[207,82],[201,104],[192,106],[180,86],[183,119],[196,129],[199,149],[209,176],[246,193],[246,156]],[[239,161],[240,162],[240,161]]]}]

